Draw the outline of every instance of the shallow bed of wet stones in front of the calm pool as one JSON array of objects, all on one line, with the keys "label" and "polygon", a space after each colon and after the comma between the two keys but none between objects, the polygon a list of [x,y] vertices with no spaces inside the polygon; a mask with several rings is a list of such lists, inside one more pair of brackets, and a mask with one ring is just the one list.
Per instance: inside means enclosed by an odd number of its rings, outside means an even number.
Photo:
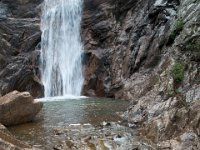
[{"label": "shallow bed of wet stones in front of the calm pool", "polygon": [[[103,123],[102,123],[103,124]],[[77,128],[76,128],[77,127]],[[68,130],[66,136],[59,135],[54,149],[71,149],[71,150],[111,150],[111,149],[148,149],[150,146],[142,137],[139,137],[135,130],[115,122],[110,122],[109,126],[85,126],[79,125],[73,128],[70,125],[65,126],[61,131]]]}]

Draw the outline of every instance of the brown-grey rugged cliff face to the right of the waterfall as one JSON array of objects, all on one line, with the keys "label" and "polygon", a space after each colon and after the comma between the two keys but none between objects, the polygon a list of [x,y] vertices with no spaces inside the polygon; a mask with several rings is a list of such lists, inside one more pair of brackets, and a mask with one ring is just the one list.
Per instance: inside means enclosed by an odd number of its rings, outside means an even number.
[{"label": "brown-grey rugged cliff face to the right of the waterfall", "polygon": [[132,100],[123,117],[158,149],[200,149],[200,2],[94,1],[86,10],[84,92]]}]

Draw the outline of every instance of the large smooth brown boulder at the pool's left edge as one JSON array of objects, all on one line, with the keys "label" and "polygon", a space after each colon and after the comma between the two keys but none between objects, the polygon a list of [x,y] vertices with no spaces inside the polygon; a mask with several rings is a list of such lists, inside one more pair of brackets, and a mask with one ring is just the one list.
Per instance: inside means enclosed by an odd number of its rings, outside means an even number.
[{"label": "large smooth brown boulder at the pool's left edge", "polygon": [[0,122],[11,126],[32,121],[42,106],[30,93],[13,91],[0,98]]}]

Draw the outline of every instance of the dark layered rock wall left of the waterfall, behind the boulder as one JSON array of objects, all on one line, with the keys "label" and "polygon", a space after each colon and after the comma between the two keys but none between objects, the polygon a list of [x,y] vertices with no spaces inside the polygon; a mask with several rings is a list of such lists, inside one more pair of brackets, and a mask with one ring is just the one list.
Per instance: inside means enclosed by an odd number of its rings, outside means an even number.
[{"label": "dark layered rock wall left of the waterfall, behind the boulder", "polygon": [[43,95],[39,80],[40,3],[0,1],[0,95],[13,90]]}]

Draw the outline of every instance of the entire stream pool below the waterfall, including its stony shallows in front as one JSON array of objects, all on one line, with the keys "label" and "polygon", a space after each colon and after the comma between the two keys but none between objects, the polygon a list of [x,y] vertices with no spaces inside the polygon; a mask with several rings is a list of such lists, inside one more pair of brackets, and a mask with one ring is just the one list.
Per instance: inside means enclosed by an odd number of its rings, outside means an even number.
[{"label": "entire stream pool below the waterfall, including its stony shallows in front", "polygon": [[43,102],[32,123],[10,127],[17,139],[40,149],[128,150],[150,148],[119,112],[129,102],[103,98],[56,98]]}]

